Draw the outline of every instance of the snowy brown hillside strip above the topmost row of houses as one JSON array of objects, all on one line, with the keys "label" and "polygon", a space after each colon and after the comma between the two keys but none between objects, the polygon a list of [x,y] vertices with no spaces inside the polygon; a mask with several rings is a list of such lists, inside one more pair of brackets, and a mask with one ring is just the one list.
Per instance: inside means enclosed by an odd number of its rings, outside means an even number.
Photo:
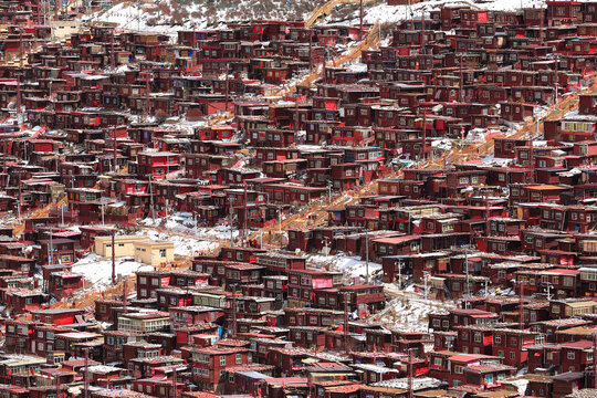
[{"label": "snowy brown hillside strip above the topmost row of houses", "polygon": [[[295,20],[305,19],[325,0],[196,0],[196,1],[124,1],[108,10],[92,14],[93,22],[117,23],[122,29],[143,32],[159,32],[175,35],[182,29],[226,28],[227,22],[247,20]],[[140,3],[140,7],[139,7]],[[438,10],[444,4],[470,6],[488,10],[515,10],[521,7],[544,7],[544,0],[428,0],[413,6],[388,6],[386,1],[365,8],[365,23],[397,22],[408,18],[419,18],[421,12]],[[342,22],[357,23],[358,7]],[[345,14],[346,15],[346,14]],[[332,13],[321,23],[334,23],[337,14]]]}]

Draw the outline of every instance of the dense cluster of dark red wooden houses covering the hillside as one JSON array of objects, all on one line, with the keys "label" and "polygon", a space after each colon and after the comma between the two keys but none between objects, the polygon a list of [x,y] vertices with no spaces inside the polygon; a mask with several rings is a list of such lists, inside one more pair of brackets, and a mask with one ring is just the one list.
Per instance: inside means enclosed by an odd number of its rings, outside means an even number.
[{"label": "dense cluster of dark red wooden houses covering the hillside", "polygon": [[[27,23],[45,2],[0,6],[18,59],[0,65],[0,398],[597,396],[595,1],[447,2],[343,66],[324,61],[368,28],[172,43],[92,24],[57,42]],[[541,139],[510,134],[527,122]],[[481,134],[490,158],[429,167]],[[338,196],[356,200],[280,250],[243,235],[188,269],[163,266],[171,242],[121,233],[172,211],[262,228]],[[80,307],[90,250],[154,266]],[[348,277],[316,252],[379,271]],[[410,300],[442,310],[391,324]]]}]

